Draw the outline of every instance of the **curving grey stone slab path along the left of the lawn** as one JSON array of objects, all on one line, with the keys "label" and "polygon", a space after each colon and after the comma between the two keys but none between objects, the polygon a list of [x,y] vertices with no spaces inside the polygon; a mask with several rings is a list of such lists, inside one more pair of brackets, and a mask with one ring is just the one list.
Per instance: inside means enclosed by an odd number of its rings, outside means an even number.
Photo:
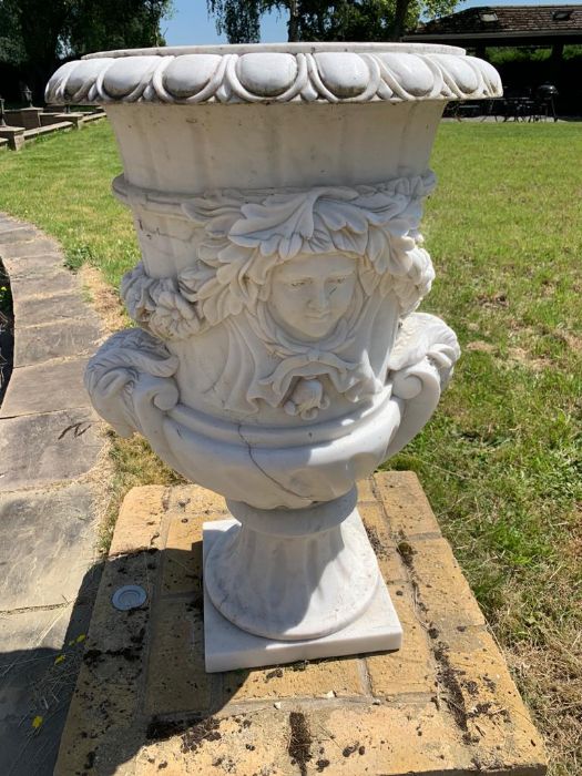
[{"label": "curving grey stone slab path along the left of the lawn", "polygon": [[0,775],[50,776],[99,585],[95,497],[75,482],[103,449],[80,355],[99,320],[39,229],[0,214],[0,258],[17,339],[0,410]]}]

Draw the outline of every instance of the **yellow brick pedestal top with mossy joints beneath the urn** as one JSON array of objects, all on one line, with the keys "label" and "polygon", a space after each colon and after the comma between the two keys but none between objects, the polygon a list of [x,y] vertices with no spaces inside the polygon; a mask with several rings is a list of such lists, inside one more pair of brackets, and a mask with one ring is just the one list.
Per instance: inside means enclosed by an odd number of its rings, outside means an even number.
[{"label": "yellow brick pedestal top with mossy joints beneath the urn", "polygon": [[[55,774],[539,776],[541,739],[410,472],[359,509],[405,627],[399,652],[204,672],[202,523],[222,498],[137,488],[120,512]],[[147,602],[111,595],[142,584]]]}]

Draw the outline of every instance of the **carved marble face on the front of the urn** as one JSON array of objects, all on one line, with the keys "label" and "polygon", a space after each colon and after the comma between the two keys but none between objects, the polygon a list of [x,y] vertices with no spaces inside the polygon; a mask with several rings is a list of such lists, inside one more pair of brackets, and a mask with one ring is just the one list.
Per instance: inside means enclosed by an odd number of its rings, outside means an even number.
[{"label": "carved marble face on the front of the urn", "polygon": [[345,254],[317,254],[276,267],[268,302],[275,320],[298,339],[327,337],[351,303],[356,262]]}]

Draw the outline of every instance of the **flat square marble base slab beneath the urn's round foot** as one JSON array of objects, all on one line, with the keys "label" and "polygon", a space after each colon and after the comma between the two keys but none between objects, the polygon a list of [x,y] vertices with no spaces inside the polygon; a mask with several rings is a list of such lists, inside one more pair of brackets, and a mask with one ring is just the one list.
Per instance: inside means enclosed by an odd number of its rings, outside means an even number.
[{"label": "flat square marble base slab beneath the urn's round foot", "polygon": [[[235,522],[204,523],[204,555],[217,535]],[[274,641],[242,631],[219,614],[204,590],[204,660],[208,673],[399,650],[401,642],[400,621],[382,579],[369,607],[358,620],[337,633],[309,641]]]}]

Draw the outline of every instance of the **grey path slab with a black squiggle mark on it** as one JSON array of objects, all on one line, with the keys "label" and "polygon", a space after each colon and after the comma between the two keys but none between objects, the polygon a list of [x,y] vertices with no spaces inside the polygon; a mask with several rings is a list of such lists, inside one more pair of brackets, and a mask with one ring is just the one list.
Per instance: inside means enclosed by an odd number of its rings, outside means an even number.
[{"label": "grey path slab with a black squiggle mark on it", "polygon": [[0,492],[86,473],[103,447],[99,423],[89,409],[0,419]]}]

